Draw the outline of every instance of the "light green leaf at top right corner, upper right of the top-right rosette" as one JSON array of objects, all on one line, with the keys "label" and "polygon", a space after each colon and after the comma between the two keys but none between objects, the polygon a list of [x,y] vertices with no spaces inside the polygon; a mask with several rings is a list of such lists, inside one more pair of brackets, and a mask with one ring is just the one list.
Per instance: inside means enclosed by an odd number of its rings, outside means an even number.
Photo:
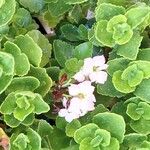
[{"label": "light green leaf at top right corner, upper right of the top-right rosette", "polygon": [[134,29],[137,26],[139,26],[149,14],[150,14],[150,7],[146,5],[145,6],[141,5],[141,6],[129,9],[126,12],[125,16],[128,19],[127,20],[128,24]]}]

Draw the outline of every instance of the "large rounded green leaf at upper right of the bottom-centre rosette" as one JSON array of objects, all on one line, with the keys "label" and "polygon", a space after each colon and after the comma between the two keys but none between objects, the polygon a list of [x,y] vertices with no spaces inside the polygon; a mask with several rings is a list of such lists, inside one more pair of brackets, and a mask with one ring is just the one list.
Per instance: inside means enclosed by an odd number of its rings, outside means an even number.
[{"label": "large rounded green leaf at upper right of the bottom-centre rosette", "polygon": [[93,122],[101,129],[111,133],[121,143],[125,134],[125,122],[122,116],[115,113],[99,113],[93,117]]}]

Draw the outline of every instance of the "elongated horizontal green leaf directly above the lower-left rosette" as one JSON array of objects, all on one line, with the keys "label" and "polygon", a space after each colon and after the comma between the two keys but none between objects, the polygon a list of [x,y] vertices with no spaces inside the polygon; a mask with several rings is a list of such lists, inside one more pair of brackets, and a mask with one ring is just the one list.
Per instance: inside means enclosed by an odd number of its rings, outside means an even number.
[{"label": "elongated horizontal green leaf directly above the lower-left rosette", "polygon": [[8,94],[15,91],[34,91],[39,87],[39,85],[40,82],[35,77],[15,77],[13,78],[11,84],[8,86],[5,92]]}]

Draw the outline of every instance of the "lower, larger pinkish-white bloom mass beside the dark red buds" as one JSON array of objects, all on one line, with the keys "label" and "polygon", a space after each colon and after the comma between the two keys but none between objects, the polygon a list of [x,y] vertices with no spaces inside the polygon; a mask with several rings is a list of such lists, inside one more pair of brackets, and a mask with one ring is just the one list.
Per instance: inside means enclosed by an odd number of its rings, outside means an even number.
[{"label": "lower, larger pinkish-white bloom mass beside the dark red buds", "polygon": [[93,95],[94,88],[90,81],[72,84],[68,87],[72,98],[69,100],[69,106],[67,106],[67,99],[63,99],[65,108],[59,111],[59,116],[65,117],[66,121],[71,122],[73,119],[84,116],[88,111],[94,110],[94,102],[96,101]]}]

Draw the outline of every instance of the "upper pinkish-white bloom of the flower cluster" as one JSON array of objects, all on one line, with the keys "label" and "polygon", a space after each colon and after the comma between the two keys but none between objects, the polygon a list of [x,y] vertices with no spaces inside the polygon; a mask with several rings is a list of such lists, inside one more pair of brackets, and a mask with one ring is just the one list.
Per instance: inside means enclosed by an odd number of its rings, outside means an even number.
[{"label": "upper pinkish-white bloom of the flower cluster", "polygon": [[90,80],[91,82],[104,84],[107,80],[107,73],[104,70],[107,67],[108,65],[105,64],[105,57],[103,55],[86,58],[83,67],[73,78],[78,82]]}]

